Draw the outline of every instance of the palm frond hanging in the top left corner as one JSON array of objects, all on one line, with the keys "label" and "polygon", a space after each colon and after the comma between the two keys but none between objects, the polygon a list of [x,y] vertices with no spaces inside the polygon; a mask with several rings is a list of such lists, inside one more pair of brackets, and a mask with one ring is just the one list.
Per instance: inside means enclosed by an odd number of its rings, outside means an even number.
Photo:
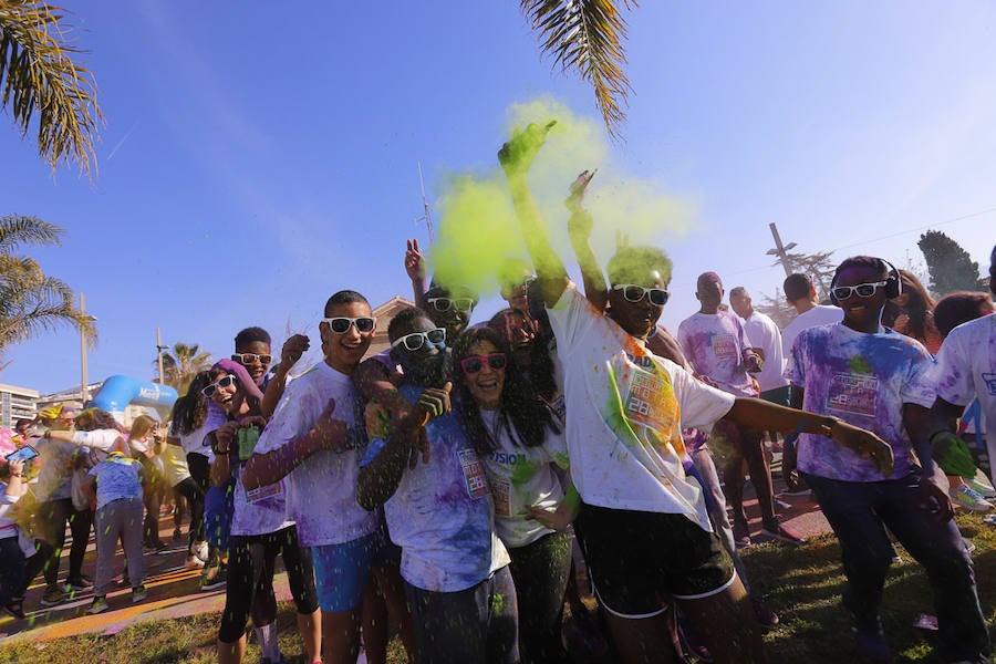
[{"label": "palm frond hanging in the top left corner", "polygon": [[69,44],[65,10],[45,2],[0,0],[0,106],[27,135],[38,112],[38,152],[54,170],[73,162],[92,175],[93,144],[104,116],[96,81],[73,62],[81,51]]}]

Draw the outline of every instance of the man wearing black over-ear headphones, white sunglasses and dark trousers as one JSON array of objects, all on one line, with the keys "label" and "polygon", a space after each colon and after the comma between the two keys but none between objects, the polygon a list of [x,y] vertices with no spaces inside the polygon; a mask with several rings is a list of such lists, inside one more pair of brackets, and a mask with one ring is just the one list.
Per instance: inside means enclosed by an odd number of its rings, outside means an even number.
[{"label": "man wearing black over-ear headphones, white sunglasses and dark trousers", "polygon": [[880,258],[844,260],[831,282],[843,321],[803,330],[788,356],[792,405],[867,428],[892,446],[891,476],[818,434],[801,434],[798,467],[841,543],[859,649],[888,662],[879,609],[892,561],[888,527],[926,570],[935,593],[938,649],[945,662],[988,662],[989,636],[972,558],[931,458],[931,355],[881,324],[886,300],[902,290]]}]

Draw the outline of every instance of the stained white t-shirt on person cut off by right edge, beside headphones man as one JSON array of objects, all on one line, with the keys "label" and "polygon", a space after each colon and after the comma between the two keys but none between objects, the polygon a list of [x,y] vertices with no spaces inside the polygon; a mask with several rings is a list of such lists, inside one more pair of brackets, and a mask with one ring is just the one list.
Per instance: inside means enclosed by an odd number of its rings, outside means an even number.
[{"label": "stained white t-shirt on person cut off by right edge, beside headphones man", "polygon": [[966,406],[978,398],[989,438],[996,438],[996,315],[968,321],[951,331],[932,371],[937,396]]}]

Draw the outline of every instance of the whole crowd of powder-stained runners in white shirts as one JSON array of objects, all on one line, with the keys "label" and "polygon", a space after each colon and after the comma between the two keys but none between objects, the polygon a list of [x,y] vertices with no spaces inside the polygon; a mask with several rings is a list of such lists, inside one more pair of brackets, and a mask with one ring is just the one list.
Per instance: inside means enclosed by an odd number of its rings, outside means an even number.
[{"label": "whole crowd of powder-stained runners in white shirts", "polygon": [[[699,654],[764,662],[761,631],[778,616],[751,594],[737,550],[751,537],[803,541],[772,489],[768,443],[781,433],[789,485],[812,491],[840,540],[861,653],[890,658],[880,605],[894,538],[930,579],[943,661],[988,662],[952,518],[953,504],[993,509],[988,294],[935,303],[912,274],[858,256],[839,264],[829,305],[809,277],[787,278],[798,317],[779,330],[743,288],[729,311],[710,271],[697,279],[699,311],[672,335],[658,324],[672,278],[662,250],[620,246],[598,263],[588,172],[567,199],[583,289],[568,277],[526,178],[544,136],[530,126],[498,155],[532,264],[506,263],[508,308],[487,323],[469,325],[471,289],[425,283],[412,241],[417,307],[390,321],[380,354],[367,356],[381,322],[363,284],[342,284],[321,311],[323,361],[294,380],[308,338],[278,359],[266,331],[247,328],[168,423],[143,416],[125,430],[103,411],[56,407],[19,424],[40,455],[13,457],[0,477],[0,604],[23,618],[41,573],[41,606],[92,592],[89,611],[103,612],[122,563],[143,601],[143,556],[169,548],[167,499],[189,510],[185,566],[203,569],[203,589],[226,590],[219,662],[242,660],[250,618],[263,662],[282,661],[278,554],[308,662],[355,662],[361,642],[384,662],[394,634],[424,664],[569,662],[562,621],[566,603],[585,615],[582,564],[619,661],[674,661],[677,615]],[[996,288],[996,248],[990,262]]]}]

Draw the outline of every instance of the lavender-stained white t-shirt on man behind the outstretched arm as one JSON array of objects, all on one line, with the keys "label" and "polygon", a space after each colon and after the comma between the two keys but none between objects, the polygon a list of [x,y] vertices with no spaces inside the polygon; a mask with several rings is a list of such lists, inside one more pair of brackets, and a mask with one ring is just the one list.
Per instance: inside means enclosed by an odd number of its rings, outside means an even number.
[{"label": "lavender-stained white t-shirt on man behind the outstretched arm", "polygon": [[678,343],[697,374],[730,394],[757,396],[757,387],[744,365],[744,351],[754,344],[736,314],[696,311],[678,325]]}]

